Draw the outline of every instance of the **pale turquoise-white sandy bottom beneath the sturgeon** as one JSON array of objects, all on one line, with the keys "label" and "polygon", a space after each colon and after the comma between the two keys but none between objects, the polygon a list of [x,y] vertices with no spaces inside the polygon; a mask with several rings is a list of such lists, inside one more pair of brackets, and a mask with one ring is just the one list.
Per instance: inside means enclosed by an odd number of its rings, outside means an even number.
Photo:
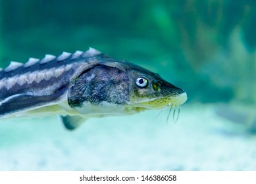
[{"label": "pale turquoise-white sandy bottom beneath the sturgeon", "polygon": [[215,105],[94,118],[75,131],[57,117],[1,120],[0,170],[256,170],[256,135]]}]

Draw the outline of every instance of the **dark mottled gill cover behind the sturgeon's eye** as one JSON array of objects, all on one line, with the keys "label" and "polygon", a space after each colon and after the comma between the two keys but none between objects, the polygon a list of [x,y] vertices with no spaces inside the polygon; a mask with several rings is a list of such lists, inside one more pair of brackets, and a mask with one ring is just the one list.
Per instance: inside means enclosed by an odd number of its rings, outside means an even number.
[{"label": "dark mottled gill cover behind the sturgeon's eye", "polygon": [[86,104],[125,104],[128,100],[128,76],[111,66],[97,65],[84,71],[68,90],[68,104],[76,110]]}]

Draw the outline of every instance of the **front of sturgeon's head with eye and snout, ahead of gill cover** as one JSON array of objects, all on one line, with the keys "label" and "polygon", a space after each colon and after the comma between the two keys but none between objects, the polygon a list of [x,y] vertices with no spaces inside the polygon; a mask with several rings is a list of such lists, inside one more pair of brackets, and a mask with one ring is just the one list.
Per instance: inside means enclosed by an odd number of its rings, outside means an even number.
[{"label": "front of sturgeon's head with eye and snout, ahead of gill cover", "polygon": [[143,109],[161,109],[165,106],[180,106],[187,100],[187,94],[159,74],[145,68],[130,68],[130,106]]}]

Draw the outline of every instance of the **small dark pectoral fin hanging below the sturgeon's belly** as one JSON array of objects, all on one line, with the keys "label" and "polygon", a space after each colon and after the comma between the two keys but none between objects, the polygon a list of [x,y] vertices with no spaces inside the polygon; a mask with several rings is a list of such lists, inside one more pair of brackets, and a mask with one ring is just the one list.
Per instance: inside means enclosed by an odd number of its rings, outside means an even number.
[{"label": "small dark pectoral fin hanging below the sturgeon's belly", "polygon": [[63,122],[66,129],[73,130],[80,126],[84,122],[84,118],[81,116],[61,116],[61,121]]}]

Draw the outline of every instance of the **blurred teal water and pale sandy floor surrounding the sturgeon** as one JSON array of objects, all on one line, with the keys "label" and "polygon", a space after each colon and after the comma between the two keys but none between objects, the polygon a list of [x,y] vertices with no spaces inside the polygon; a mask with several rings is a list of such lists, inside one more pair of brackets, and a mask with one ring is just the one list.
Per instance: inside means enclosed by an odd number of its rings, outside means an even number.
[{"label": "blurred teal water and pale sandy floor surrounding the sturgeon", "polygon": [[0,0],[0,67],[93,47],[184,89],[165,112],[1,120],[0,170],[256,170],[256,1]]}]

